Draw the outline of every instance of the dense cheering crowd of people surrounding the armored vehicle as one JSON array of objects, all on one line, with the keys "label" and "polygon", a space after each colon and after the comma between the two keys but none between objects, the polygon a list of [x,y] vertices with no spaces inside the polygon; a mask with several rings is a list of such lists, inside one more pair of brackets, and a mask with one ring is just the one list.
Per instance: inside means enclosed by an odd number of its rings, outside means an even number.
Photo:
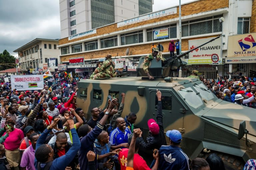
[{"label": "dense cheering crowd of people surrounding the armored vehicle", "polygon": [[[200,80],[218,98],[255,108],[253,76]],[[164,132],[161,91],[156,93],[156,121],[148,120],[145,141],[142,131],[134,128],[136,114],[121,117],[125,93],[121,93],[120,105],[115,98],[108,100],[106,108],[91,108],[87,120],[76,104],[78,81],[57,77],[56,85],[45,84],[44,89],[32,91],[16,91],[10,83],[1,83],[1,170],[225,169],[216,154],[190,161],[180,148],[181,133],[175,129]],[[139,148],[152,151],[150,166],[138,154]],[[249,160],[245,169],[255,165],[255,160]]]}]

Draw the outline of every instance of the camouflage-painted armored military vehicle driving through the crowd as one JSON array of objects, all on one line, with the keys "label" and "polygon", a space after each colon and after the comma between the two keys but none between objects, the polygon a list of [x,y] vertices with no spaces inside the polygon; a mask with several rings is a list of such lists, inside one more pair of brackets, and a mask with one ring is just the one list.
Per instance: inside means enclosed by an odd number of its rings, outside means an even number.
[{"label": "camouflage-painted armored military vehicle driving through the crowd", "polygon": [[[210,151],[222,156],[227,169],[239,169],[243,161],[255,159],[255,109],[218,99],[198,79],[162,78],[166,71],[171,73],[170,70],[184,64],[181,60],[173,61],[177,58],[179,56],[168,60],[163,67],[161,62],[152,60],[149,70],[155,77],[153,81],[141,77],[81,80],[78,83],[77,104],[82,107],[85,117],[89,118],[92,107],[107,107],[109,94],[121,102],[121,93],[124,92],[122,117],[135,112],[135,126],[142,129],[146,138],[148,119],[156,119],[158,89],[162,93],[164,130],[177,129],[182,133],[181,147],[191,159],[206,156],[208,153],[203,150]],[[143,58],[139,62],[138,72],[143,76],[140,70],[142,62]],[[175,62],[179,64],[173,66]],[[166,67],[175,68],[167,70]]]}]

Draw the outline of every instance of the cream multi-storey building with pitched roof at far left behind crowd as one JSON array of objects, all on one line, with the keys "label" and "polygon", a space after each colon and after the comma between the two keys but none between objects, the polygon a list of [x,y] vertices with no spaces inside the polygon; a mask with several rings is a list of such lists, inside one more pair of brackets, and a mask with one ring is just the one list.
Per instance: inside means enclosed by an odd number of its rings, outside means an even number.
[{"label": "cream multi-storey building with pitched roof at far left behind crowd", "polygon": [[49,65],[48,61],[56,61],[58,58],[59,49],[57,46],[58,40],[36,38],[13,52],[18,53],[20,70],[23,73],[28,71],[43,72],[48,66],[52,67],[52,71],[54,71],[55,62]]}]

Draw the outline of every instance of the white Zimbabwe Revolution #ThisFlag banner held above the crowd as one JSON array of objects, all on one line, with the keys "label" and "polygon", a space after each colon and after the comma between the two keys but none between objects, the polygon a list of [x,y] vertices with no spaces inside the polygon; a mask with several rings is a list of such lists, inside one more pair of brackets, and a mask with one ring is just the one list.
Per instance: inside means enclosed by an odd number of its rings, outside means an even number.
[{"label": "white Zimbabwe Revolution #ThisFlag banner held above the crowd", "polygon": [[43,75],[11,75],[12,88],[17,90],[37,90],[44,88]]}]

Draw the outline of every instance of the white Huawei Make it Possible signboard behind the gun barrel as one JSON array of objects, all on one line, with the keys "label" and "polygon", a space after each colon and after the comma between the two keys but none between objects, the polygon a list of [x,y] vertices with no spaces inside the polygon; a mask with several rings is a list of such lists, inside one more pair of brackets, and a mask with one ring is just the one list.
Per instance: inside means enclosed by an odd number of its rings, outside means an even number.
[{"label": "white Huawei Make it Possible signboard behind the gun barrel", "polygon": [[[212,38],[204,38],[204,39],[197,39],[197,40],[189,40],[188,46],[189,50],[200,46],[201,44],[211,40]],[[216,39],[194,51],[189,53],[189,60],[188,64],[212,64],[212,55],[215,54],[219,57],[219,60],[215,62],[216,64],[222,63],[221,56],[221,39]],[[202,62],[202,63],[200,63]]]}]

